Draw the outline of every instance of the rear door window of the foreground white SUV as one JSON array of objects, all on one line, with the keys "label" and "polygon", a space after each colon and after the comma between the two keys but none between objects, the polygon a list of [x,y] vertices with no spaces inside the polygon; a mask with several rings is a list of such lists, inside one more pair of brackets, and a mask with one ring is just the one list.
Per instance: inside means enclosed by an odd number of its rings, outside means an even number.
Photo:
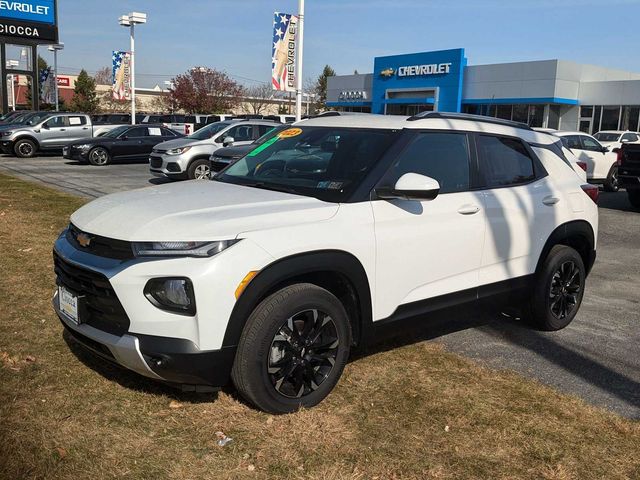
[{"label": "rear door window of the foreground white SUV", "polygon": [[535,179],[533,161],[518,139],[480,135],[478,153],[480,175],[487,188],[518,185]]}]

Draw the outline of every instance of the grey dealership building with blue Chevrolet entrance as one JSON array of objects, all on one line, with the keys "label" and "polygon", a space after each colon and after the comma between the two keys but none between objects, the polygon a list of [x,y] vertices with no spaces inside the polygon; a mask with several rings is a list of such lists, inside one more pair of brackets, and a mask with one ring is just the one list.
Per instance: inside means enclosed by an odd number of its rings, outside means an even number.
[{"label": "grey dealership building with blue Chevrolet entrance", "polygon": [[376,57],[373,73],[327,82],[342,111],[465,112],[560,130],[638,131],[640,73],[565,60],[467,65],[464,49]]}]

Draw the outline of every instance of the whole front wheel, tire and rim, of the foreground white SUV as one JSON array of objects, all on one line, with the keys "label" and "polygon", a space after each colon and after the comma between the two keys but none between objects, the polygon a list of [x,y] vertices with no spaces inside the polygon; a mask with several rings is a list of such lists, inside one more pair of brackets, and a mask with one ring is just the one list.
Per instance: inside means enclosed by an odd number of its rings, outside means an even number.
[{"label": "whole front wheel, tire and rim, of the foreground white SUV", "polygon": [[342,303],[316,285],[290,285],[249,316],[231,378],[240,394],[265,412],[313,407],[338,383],[350,345]]}]

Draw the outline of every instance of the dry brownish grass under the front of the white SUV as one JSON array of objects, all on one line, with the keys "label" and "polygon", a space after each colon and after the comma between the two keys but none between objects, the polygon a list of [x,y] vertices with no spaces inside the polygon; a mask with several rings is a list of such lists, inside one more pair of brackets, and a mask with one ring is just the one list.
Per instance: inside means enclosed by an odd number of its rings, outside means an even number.
[{"label": "dry brownish grass under the front of the white SUV", "polygon": [[434,343],[360,357],[280,417],[103,365],[50,306],[51,246],[81,203],[0,175],[0,478],[640,478],[639,423]]}]

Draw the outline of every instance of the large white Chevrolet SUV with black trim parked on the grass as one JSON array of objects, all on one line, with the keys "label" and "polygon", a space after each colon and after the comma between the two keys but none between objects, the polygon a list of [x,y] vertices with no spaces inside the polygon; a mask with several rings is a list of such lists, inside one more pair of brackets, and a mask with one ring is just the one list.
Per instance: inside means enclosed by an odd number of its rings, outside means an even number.
[{"label": "large white Chevrolet SUV with black trim parked on the grass", "polygon": [[[54,307],[102,357],[259,408],[320,402],[385,326],[508,294],[575,317],[597,187],[560,141],[460,114],[309,119],[212,181],[108,195],[55,243]],[[416,317],[419,317],[416,319]]]}]

